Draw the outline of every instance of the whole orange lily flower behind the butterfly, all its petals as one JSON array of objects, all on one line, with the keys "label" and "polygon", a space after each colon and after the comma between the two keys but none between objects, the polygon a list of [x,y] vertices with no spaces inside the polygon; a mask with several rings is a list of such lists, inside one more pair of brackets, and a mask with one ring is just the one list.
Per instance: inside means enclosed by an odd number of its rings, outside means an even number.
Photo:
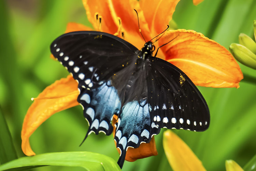
[{"label": "whole orange lily flower behind the butterfly, all its petals", "polygon": [[[150,40],[166,29],[179,1],[148,3],[146,0],[83,0],[83,4],[88,20],[96,31],[117,35],[140,49],[145,42],[139,32],[137,15],[133,9],[138,12],[142,34],[146,40]],[[194,4],[201,1],[194,0]],[[92,29],[81,24],[69,23],[66,32],[82,30]],[[226,48],[201,33],[184,29],[169,30],[156,42],[156,47],[157,43],[162,45],[177,35],[179,36],[176,39],[159,49],[157,57],[179,67],[196,85],[239,87],[243,75],[233,56]],[[29,137],[47,118],[56,112],[78,105],[77,85],[71,76],[56,81],[38,96],[40,99],[55,98],[35,100],[30,106],[22,128],[22,150],[26,155],[35,155],[30,147]],[[135,161],[152,155],[157,155],[154,138],[148,144],[141,144],[139,148],[128,148],[126,160]]]}]

